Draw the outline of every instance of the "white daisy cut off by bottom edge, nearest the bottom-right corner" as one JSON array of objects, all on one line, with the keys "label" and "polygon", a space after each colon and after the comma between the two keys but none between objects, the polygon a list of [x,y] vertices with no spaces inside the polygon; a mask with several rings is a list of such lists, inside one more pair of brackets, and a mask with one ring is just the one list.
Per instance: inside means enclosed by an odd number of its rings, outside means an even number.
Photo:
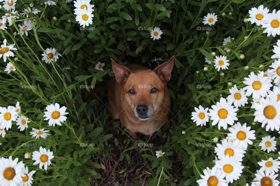
[{"label": "white daisy cut off by bottom edge, nearest the bottom-right corner", "polygon": [[255,176],[256,178],[254,178],[253,183],[256,184],[256,186],[279,186],[279,181],[276,180],[278,174],[267,174],[263,171],[257,170]]}]

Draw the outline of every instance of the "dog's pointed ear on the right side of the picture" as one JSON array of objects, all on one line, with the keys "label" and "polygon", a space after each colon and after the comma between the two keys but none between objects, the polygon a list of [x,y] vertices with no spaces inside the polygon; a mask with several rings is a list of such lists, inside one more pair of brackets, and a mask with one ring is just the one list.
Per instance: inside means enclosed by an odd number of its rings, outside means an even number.
[{"label": "dog's pointed ear on the right side of the picture", "polygon": [[155,73],[157,73],[159,78],[165,83],[167,83],[171,78],[171,71],[174,66],[174,58],[175,56],[172,56],[167,62],[158,65],[154,69]]}]

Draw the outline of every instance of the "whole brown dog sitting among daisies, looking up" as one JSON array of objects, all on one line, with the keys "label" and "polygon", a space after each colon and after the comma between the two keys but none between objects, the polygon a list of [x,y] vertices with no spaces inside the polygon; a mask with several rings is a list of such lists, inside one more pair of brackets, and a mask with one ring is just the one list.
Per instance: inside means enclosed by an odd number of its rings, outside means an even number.
[{"label": "whole brown dog sitting among daisies, looking up", "polygon": [[168,120],[170,96],[166,85],[174,56],[154,70],[111,61],[115,78],[108,82],[108,112],[113,119],[120,119],[134,140],[139,139],[136,133],[152,135]]}]

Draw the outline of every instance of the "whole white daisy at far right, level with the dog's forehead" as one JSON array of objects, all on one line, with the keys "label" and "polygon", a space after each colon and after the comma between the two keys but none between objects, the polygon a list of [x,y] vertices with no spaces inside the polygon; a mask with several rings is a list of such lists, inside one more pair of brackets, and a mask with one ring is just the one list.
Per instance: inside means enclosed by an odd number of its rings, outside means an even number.
[{"label": "whole white daisy at far right, level with the dog's forehead", "polygon": [[246,91],[246,96],[251,96],[253,94],[254,99],[259,99],[260,96],[265,97],[267,95],[267,91],[272,87],[270,80],[268,77],[264,77],[264,72],[260,72],[260,74],[255,75],[254,72],[251,72],[249,78],[244,78],[244,84],[248,85],[244,87]]}]

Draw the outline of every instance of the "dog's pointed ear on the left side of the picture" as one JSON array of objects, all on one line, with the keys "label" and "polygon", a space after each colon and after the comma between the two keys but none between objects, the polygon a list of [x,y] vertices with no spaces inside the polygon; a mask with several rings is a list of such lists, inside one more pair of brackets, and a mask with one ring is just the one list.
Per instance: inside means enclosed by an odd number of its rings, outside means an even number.
[{"label": "dog's pointed ear on the left side of the picture", "polygon": [[120,83],[120,85],[123,85],[131,72],[127,67],[118,65],[112,58],[111,61],[116,81]]}]

